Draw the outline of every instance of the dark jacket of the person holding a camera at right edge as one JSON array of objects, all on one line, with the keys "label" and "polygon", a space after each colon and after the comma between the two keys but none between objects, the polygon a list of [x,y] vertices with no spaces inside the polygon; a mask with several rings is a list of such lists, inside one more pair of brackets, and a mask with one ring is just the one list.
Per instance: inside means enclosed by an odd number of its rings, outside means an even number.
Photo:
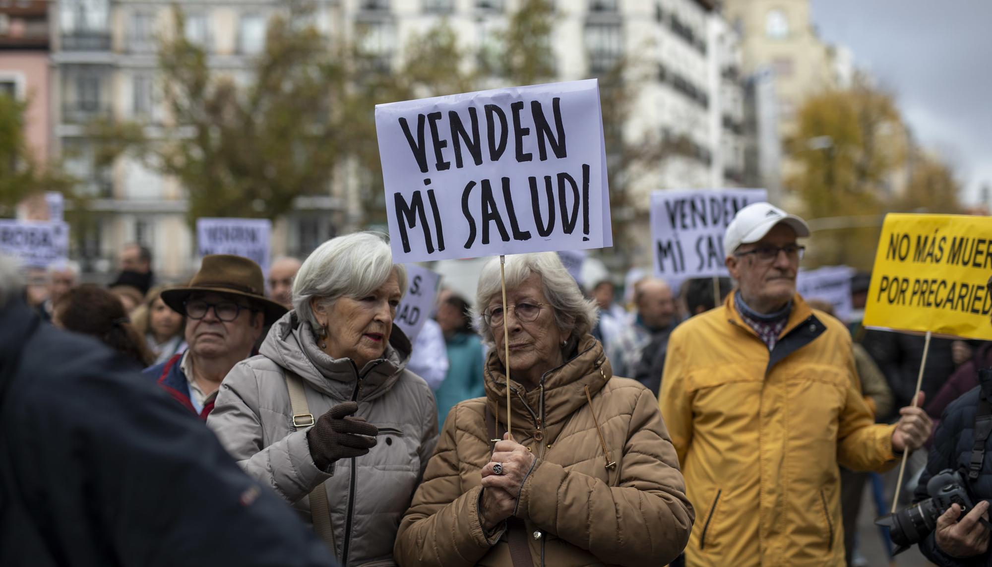
[{"label": "dark jacket of the person holding a camera at right edge", "polygon": [[[980,375],[979,375],[980,376]],[[967,480],[968,463],[971,462],[971,449],[975,443],[975,413],[978,411],[978,398],[981,389],[992,394],[992,383],[979,385],[952,401],[943,411],[940,424],[933,434],[933,444],[927,460],[927,468],[920,477],[914,501],[930,498],[927,483],[933,475],[943,469],[959,471]],[[992,399],[992,397],[989,397]],[[978,479],[968,480],[971,497],[978,500],[992,500],[992,435],[985,440],[985,456]],[[958,559],[943,553],[936,546],[933,533],[920,542],[920,550],[930,561],[940,567],[978,567],[992,565],[992,551],[968,559]]]}]

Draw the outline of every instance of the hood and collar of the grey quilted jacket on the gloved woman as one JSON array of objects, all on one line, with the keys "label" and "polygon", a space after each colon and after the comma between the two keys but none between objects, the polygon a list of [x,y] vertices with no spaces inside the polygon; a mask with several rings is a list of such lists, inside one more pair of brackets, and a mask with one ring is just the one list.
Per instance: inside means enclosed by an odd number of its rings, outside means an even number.
[{"label": "hood and collar of the grey quilted jacket on the gloved woman", "polygon": [[361,378],[357,399],[370,401],[396,384],[412,350],[410,339],[394,324],[383,358],[356,368],[349,358],[334,359],[321,351],[310,326],[300,321],[294,310],[272,325],[259,354],[295,372],[314,390],[336,399],[351,399],[356,377]]}]

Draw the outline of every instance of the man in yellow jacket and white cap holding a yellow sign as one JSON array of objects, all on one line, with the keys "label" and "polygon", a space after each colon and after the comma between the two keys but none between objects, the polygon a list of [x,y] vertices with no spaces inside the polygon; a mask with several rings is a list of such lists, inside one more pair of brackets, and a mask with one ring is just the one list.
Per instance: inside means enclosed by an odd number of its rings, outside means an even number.
[{"label": "man in yellow jacket and white cap holding a yellow sign", "polygon": [[838,463],[883,471],[930,436],[918,407],[874,423],[850,334],[796,293],[806,236],[768,203],[741,209],[724,236],[738,288],[672,333],[660,403],[696,510],[688,566],[843,566]]}]

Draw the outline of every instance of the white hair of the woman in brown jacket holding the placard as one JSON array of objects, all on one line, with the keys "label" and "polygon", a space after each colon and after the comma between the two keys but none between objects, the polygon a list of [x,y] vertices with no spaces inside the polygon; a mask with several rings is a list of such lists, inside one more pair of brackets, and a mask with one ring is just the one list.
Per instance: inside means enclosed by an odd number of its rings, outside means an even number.
[{"label": "white hair of the woman in brown jacket holding the placard", "polygon": [[[508,290],[520,286],[534,274],[541,278],[545,296],[552,304],[558,329],[564,333],[571,333],[569,343],[576,342],[595,326],[599,316],[596,302],[585,298],[575,279],[561,264],[558,254],[541,252],[507,256],[504,272]],[[482,312],[493,300],[502,300],[499,258],[490,260],[482,267],[475,293],[475,305],[472,307],[472,322],[475,329],[482,335],[482,341],[490,347],[495,345],[493,331],[486,324]]]}]

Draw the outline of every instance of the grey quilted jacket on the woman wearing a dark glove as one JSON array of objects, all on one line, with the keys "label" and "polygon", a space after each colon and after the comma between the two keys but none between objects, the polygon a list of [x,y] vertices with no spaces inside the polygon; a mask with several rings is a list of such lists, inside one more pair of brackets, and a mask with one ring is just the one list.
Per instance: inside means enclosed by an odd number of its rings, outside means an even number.
[{"label": "grey quilted jacket on the woman wearing a dark glove", "polygon": [[[357,369],[331,359],[291,311],[272,326],[260,355],[224,379],[207,425],[248,474],[310,520],[307,496],[321,483],[342,565],[392,565],[393,542],[437,441],[434,395],[406,370],[410,340],[393,327],[385,357]],[[379,428],[369,454],[337,461],[330,473],[310,457],[306,428],[293,426],[286,369],[304,382],[314,417],[355,399],[356,415]]]}]

